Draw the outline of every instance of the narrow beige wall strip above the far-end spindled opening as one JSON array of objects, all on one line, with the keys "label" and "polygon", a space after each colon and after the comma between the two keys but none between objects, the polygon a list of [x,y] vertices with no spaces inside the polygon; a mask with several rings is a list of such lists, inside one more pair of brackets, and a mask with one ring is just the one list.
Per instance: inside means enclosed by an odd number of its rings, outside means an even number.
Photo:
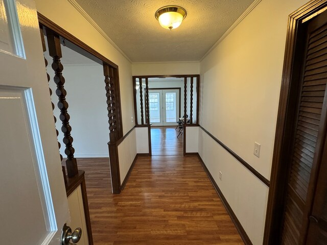
[{"label": "narrow beige wall strip above the far-end spindled opening", "polygon": [[199,62],[134,63],[133,76],[199,74]]}]

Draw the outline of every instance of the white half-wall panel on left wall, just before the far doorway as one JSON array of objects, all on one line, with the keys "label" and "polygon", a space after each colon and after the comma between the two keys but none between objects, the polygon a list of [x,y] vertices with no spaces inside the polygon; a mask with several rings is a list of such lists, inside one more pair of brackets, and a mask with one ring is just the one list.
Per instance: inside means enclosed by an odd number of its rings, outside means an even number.
[{"label": "white half-wall panel on left wall, just before the far doorway", "polygon": [[120,145],[118,145],[118,159],[121,184],[123,183],[130,166],[136,156],[136,133],[135,128],[127,135]]}]

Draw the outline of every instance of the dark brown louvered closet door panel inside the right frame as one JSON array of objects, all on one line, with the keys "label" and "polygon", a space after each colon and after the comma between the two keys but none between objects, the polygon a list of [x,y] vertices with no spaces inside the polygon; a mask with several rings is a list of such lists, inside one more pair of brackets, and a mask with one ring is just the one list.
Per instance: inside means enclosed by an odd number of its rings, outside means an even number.
[{"label": "dark brown louvered closet door panel inside the right frame", "polygon": [[322,115],[327,82],[327,25],[318,22],[313,19],[308,26],[304,75],[298,116],[294,123],[295,138],[290,151],[291,167],[282,224],[282,244],[302,244],[303,233],[308,226],[303,215],[306,215],[305,210],[312,203],[312,200],[307,200],[308,188],[310,179],[314,178],[312,169],[317,164],[318,150],[321,148],[319,142],[325,121]]}]

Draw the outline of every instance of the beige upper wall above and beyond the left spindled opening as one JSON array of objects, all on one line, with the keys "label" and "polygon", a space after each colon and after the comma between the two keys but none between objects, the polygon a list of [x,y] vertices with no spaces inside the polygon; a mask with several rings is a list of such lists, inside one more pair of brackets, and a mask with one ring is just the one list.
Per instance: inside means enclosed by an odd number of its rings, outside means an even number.
[{"label": "beige upper wall above and beyond the left spindled opening", "polygon": [[[124,135],[134,126],[132,66],[67,0],[35,0],[37,11],[119,66]],[[104,84],[104,83],[103,83]],[[101,95],[102,96],[102,95]]]}]

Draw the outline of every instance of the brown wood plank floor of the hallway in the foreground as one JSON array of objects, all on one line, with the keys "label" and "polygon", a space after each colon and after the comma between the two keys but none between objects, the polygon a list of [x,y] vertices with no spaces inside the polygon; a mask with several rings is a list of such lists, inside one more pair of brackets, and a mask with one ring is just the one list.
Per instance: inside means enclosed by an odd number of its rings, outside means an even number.
[{"label": "brown wood plank floor of the hallway in the foreground", "polygon": [[106,162],[78,159],[95,245],[243,244],[196,156],[138,157],[117,195]]}]

